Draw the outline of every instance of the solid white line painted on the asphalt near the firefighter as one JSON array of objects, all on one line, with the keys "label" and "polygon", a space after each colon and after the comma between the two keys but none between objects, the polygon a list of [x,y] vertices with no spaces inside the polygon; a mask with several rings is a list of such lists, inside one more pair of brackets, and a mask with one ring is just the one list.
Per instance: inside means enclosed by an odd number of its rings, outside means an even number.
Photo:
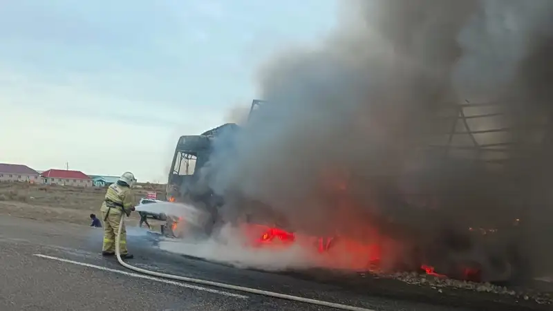
[{"label": "solid white line painted on the asphalt near the firefighter", "polygon": [[43,254],[34,254],[34,256],[37,256],[37,257],[40,257],[40,258],[51,259],[53,261],[61,261],[62,263],[72,263],[73,265],[80,265],[82,267],[90,267],[90,268],[97,269],[97,270],[123,274],[123,275],[126,275],[126,276],[132,276],[134,278],[146,279],[146,280],[149,280],[149,281],[156,281],[156,282],[160,282],[160,283],[176,285],[176,286],[180,286],[181,288],[189,288],[191,290],[201,290],[203,292],[211,292],[211,293],[214,293],[214,294],[220,294],[220,295],[223,295],[223,296],[229,296],[229,297],[240,298],[240,299],[250,298],[248,296],[244,296],[244,295],[241,295],[241,294],[234,294],[232,292],[225,292],[223,290],[214,290],[212,288],[204,288],[202,286],[191,285],[191,284],[187,284],[187,283],[181,283],[181,282],[176,282],[176,281],[171,281],[171,280],[166,280],[166,279],[160,279],[160,278],[156,278],[156,277],[153,277],[153,276],[148,276],[148,275],[145,275],[145,274],[138,274],[138,273],[126,272],[126,271],[117,270],[117,269],[111,269],[109,267],[102,267],[101,265],[92,265],[90,263],[82,263],[80,261],[71,261],[69,259],[58,258],[58,257],[48,256],[48,255],[43,255]]}]

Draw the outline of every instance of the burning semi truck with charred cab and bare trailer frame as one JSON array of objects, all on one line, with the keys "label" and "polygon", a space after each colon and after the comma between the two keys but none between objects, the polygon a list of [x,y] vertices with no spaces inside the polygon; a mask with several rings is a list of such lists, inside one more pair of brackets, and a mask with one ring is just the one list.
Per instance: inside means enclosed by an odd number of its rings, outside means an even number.
[{"label": "burning semi truck with charred cab and bare trailer frame", "polygon": [[[252,102],[248,124],[255,122],[258,111],[263,113],[260,107],[264,104],[261,100]],[[402,176],[371,176],[368,189],[365,181],[359,181],[363,176],[341,171],[339,167],[324,171],[317,176],[321,180],[321,193],[326,196],[325,202],[335,207],[330,212],[335,222],[330,221],[332,225],[325,226],[324,230],[298,225],[266,202],[248,198],[239,191],[214,190],[212,185],[218,170],[211,162],[215,153],[221,146],[227,156],[236,152],[234,139],[248,124],[241,127],[229,123],[200,135],[180,137],[169,172],[167,200],[189,203],[206,211],[209,221],[200,230],[203,236],[212,236],[221,225],[232,223],[245,228],[243,232],[252,247],[301,244],[317,249],[321,256],[334,252],[341,258],[348,257],[347,261],[329,263],[331,268],[419,271],[469,281],[521,281],[531,273],[523,255],[524,243],[521,243],[529,229],[525,224],[525,218],[529,217],[525,207],[528,201],[527,196],[519,194],[527,192],[531,185],[524,185],[526,167],[516,165],[520,162],[509,164],[513,163],[509,160],[521,156],[517,153],[520,149],[515,148],[520,141],[509,135],[512,129],[493,128],[494,122],[484,122],[491,124],[492,128],[488,129],[471,127],[471,124],[478,125],[479,120],[509,113],[514,111],[505,104],[465,103],[440,109],[435,120],[444,131],[432,135],[431,141],[411,146],[413,158],[424,154],[425,159],[432,159],[431,168],[424,167],[423,174],[419,173],[420,167],[428,161],[421,164],[415,159],[409,169],[403,170]],[[538,133],[546,132],[543,126],[538,126]],[[539,149],[532,148],[531,144],[525,143],[524,147],[526,155],[539,156]],[[458,173],[449,176],[456,176],[461,180],[459,184],[466,187],[449,190],[451,187],[444,185],[451,180],[440,176],[444,170],[451,169],[451,163]],[[231,158],[227,158],[226,165],[233,165]],[[463,173],[475,167],[486,173],[476,179]],[[489,187],[489,196],[503,196],[494,192],[498,190],[493,185],[498,179],[506,178],[514,180],[509,188],[513,200],[503,207],[500,217],[494,214],[498,209],[487,211],[481,205],[474,206],[475,200],[482,198],[471,196],[481,191],[472,192],[471,187]],[[406,186],[389,187],[398,183]],[[443,190],[446,186],[448,191]],[[386,206],[387,212],[355,208],[364,204],[353,200],[356,191],[371,191],[371,204]],[[456,204],[465,208],[449,209],[444,205],[452,202],[452,196]],[[228,212],[229,205],[234,207],[232,213]],[[312,218],[317,221],[316,214]],[[413,220],[418,225],[413,225]]]}]

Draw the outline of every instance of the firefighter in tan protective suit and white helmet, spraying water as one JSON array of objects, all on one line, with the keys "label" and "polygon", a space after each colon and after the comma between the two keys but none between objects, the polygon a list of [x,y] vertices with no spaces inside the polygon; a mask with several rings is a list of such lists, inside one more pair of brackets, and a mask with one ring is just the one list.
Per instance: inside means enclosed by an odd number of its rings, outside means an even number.
[{"label": "firefighter in tan protective suit and white helmet, spraying water", "polygon": [[[136,179],[133,173],[127,171],[119,180],[108,187],[106,197],[102,203],[100,211],[104,218],[104,243],[102,246],[102,256],[113,256],[115,254],[115,237],[118,235],[119,223],[123,212],[126,216],[135,210],[133,205],[133,193],[131,187]],[[133,258],[126,249],[126,229],[121,228],[120,238],[121,257],[125,259]]]}]

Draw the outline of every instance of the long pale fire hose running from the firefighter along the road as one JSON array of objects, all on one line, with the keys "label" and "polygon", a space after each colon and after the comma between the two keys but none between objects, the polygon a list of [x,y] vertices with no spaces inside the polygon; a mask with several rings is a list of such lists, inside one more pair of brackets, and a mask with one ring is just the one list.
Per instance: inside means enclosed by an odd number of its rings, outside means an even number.
[{"label": "long pale fire hose running from the firefighter along the road", "polygon": [[147,274],[147,275],[150,275],[150,276],[156,276],[156,277],[162,278],[162,279],[169,279],[169,280],[174,280],[174,281],[182,281],[182,282],[186,282],[186,283],[207,285],[207,286],[212,286],[214,288],[223,288],[225,290],[234,290],[234,291],[237,291],[237,292],[246,292],[246,293],[249,293],[249,294],[270,296],[270,297],[273,297],[273,298],[285,299],[285,300],[289,300],[289,301],[297,301],[297,302],[301,302],[301,303],[309,303],[309,304],[312,304],[312,305],[321,305],[321,306],[335,308],[335,309],[339,309],[339,310],[375,311],[375,310],[366,309],[366,308],[354,307],[353,305],[343,305],[343,304],[340,304],[340,303],[331,303],[331,302],[328,302],[328,301],[308,299],[308,298],[304,298],[304,297],[292,296],[292,295],[288,295],[288,294],[281,294],[281,293],[277,293],[277,292],[269,292],[269,291],[266,291],[266,290],[257,290],[255,288],[245,288],[243,286],[238,286],[238,285],[218,283],[218,282],[207,281],[207,280],[202,280],[202,279],[194,279],[194,278],[189,278],[189,277],[186,277],[186,276],[179,276],[179,275],[175,275],[175,274],[166,274],[166,273],[150,271],[150,270],[142,269],[140,267],[135,267],[133,265],[129,265],[128,263],[125,263],[123,261],[123,259],[121,258],[121,251],[120,251],[120,248],[119,248],[119,245],[121,243],[120,242],[120,240],[121,240],[121,230],[123,228],[124,216],[125,216],[125,214],[122,213],[121,220],[119,222],[118,235],[115,237],[115,256],[117,256],[118,262],[123,267],[126,267],[129,270],[133,270],[135,272],[139,272],[139,273],[142,273],[142,274]]}]

